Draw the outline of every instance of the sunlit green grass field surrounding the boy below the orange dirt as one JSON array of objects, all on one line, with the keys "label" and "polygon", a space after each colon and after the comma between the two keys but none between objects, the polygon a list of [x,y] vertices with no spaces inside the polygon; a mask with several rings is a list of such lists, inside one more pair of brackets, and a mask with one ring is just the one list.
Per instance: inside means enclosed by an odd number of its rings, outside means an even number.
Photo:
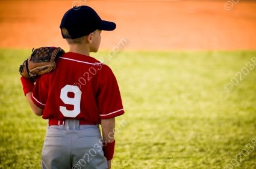
[{"label": "sunlit green grass field surrounding the boy below the orange dirt", "polygon": [[[0,168],[40,168],[47,122],[31,112],[18,73],[30,53],[0,50]],[[126,111],[117,117],[112,168],[256,168],[254,57],[241,51],[107,58]],[[255,69],[240,80],[247,62]],[[233,77],[239,84],[226,92]]]}]

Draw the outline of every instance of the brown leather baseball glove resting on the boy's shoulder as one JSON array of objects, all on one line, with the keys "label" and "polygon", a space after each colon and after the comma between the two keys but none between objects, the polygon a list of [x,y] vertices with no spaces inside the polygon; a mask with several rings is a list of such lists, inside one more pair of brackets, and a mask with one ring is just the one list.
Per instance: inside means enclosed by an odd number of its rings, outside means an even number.
[{"label": "brown leather baseball glove resting on the boy's shoulder", "polygon": [[55,69],[55,60],[65,52],[60,47],[33,49],[31,56],[19,67],[21,76],[35,82],[37,77]]}]

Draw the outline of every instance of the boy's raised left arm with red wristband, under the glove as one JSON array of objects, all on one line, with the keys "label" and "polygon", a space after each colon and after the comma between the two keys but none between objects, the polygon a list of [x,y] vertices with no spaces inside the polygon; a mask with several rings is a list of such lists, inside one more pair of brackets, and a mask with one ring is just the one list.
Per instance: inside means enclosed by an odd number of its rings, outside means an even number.
[{"label": "boy's raised left arm with red wristband, under the glove", "polygon": [[34,83],[26,79],[25,77],[20,77],[20,81],[22,83],[24,95],[26,96],[28,104],[30,104],[31,109],[35,114],[37,114],[37,116],[42,116],[43,109],[37,107],[37,105],[34,104],[33,100],[31,99]]}]

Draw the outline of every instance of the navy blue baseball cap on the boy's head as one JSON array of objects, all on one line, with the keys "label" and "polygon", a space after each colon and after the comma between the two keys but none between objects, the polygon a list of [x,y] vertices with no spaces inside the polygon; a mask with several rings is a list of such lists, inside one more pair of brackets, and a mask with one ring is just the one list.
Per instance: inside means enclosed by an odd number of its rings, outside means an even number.
[{"label": "navy blue baseball cap on the boy's head", "polygon": [[66,28],[70,35],[64,37],[61,31],[63,38],[75,39],[89,35],[96,29],[113,31],[116,29],[116,23],[102,20],[91,7],[81,6],[71,8],[64,14],[60,23],[61,28]]}]

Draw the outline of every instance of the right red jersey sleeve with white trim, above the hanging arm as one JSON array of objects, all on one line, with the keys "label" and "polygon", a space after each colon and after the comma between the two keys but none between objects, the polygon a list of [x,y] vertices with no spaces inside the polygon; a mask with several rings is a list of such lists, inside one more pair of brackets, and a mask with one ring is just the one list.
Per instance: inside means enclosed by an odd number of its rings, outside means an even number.
[{"label": "right red jersey sleeve with white trim, above the hanging arm", "polygon": [[117,80],[110,68],[104,71],[104,77],[101,78],[97,102],[100,119],[110,119],[125,113]]}]

